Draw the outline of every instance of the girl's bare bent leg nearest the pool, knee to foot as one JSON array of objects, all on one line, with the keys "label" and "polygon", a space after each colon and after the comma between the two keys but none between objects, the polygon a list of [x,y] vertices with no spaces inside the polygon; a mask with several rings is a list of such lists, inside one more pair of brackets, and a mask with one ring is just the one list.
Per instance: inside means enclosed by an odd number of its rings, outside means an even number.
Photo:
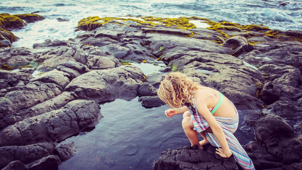
[{"label": "girl's bare bent leg nearest the pool, knee to foot", "polygon": [[184,117],[184,119],[182,119],[182,128],[184,129],[186,136],[190,140],[191,146],[197,145],[198,149],[203,149],[203,147],[199,143],[196,131],[193,130],[194,124],[191,123],[191,117]]}]

